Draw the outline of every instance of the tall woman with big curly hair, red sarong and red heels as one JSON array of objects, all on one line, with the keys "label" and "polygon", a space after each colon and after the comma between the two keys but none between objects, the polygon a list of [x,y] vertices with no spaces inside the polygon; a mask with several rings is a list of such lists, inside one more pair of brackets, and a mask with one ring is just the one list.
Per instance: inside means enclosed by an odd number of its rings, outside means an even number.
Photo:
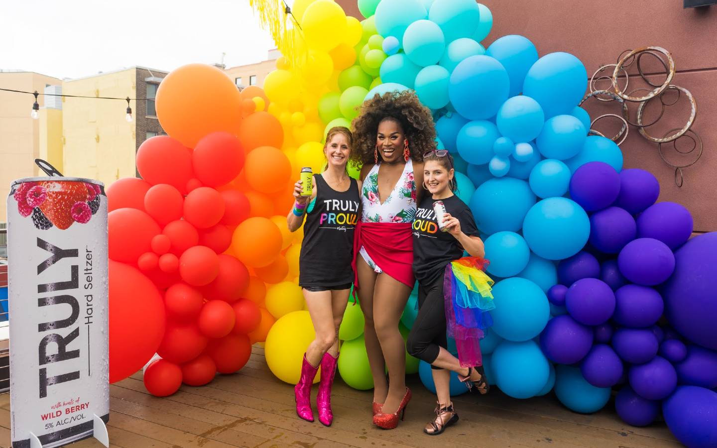
[{"label": "tall woman with big curly hair, red sarong and red heels", "polygon": [[[374,377],[374,424],[395,428],[411,399],[399,320],[414,285],[411,225],[423,181],[422,154],[435,148],[430,111],[413,92],[375,95],[353,120],[353,158],[362,163],[361,223],[356,227],[356,279]],[[385,368],[388,366],[389,379]]]}]

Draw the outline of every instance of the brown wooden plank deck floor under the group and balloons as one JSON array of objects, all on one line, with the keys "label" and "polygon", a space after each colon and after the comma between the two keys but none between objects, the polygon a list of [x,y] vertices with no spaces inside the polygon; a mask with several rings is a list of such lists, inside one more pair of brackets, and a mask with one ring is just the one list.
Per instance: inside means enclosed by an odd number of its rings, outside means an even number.
[{"label": "brown wooden plank deck floor under the group and balloons", "polygon": [[[338,378],[338,376],[337,376]],[[371,392],[338,380],[329,428],[298,419],[292,386],[268,370],[261,348],[239,373],[203,387],[182,386],[159,399],[144,389],[141,374],[110,388],[110,442],[123,448],[224,447],[679,447],[665,424],[628,426],[612,404],[592,415],[575,414],[554,396],[511,399],[500,391],[465,394],[454,400],[460,421],[439,437],[422,429],[435,398],[409,377],[414,391],[406,421],[393,431],[371,424]],[[315,394],[315,388],[314,388]],[[0,446],[9,447],[9,395],[0,396]],[[93,439],[73,448],[100,447]]]}]

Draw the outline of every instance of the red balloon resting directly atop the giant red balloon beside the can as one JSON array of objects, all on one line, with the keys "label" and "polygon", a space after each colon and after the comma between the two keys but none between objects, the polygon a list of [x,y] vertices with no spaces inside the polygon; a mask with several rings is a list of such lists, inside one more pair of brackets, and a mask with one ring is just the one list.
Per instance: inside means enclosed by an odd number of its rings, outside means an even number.
[{"label": "red balloon resting directly atop the giant red balloon beside the can", "polygon": [[117,209],[108,214],[109,256],[115,262],[137,262],[151,252],[152,238],[160,232],[157,223],[138,209]]}]

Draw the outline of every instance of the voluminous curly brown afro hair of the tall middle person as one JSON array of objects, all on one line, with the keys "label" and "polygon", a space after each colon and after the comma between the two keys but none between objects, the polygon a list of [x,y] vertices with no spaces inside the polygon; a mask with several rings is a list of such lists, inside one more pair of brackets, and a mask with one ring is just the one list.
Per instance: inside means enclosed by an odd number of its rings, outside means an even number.
[{"label": "voluminous curly brown afro hair of the tall middle person", "polygon": [[414,161],[422,161],[423,153],[435,148],[436,129],[431,111],[421,104],[414,92],[376,93],[361,105],[360,115],[351,124],[355,148],[351,158],[357,166],[374,163],[376,135],[384,118],[394,118],[401,123]]}]

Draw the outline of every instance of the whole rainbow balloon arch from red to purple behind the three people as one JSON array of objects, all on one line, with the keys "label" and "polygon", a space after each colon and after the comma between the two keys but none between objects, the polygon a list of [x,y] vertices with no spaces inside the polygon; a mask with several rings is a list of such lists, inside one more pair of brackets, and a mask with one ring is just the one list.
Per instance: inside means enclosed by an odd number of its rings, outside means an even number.
[{"label": "whole rainbow balloon arch from red to purple behind the three people", "polygon": [[[628,424],[662,411],[681,442],[717,443],[717,234],[690,239],[689,211],[655,204],[655,177],[623,170],[620,148],[590,135],[579,59],[538,57],[516,35],[483,47],[493,17],[473,0],[359,0],[362,22],[298,0],[301,32],[252,3],[285,54],[264,89],[240,92],[206,65],[171,72],[156,97],[168,135],[139,148],[142,178],[108,188],[111,382],[156,353],[144,381],[167,396],[238,371],[252,343],[277,378],[298,381],[314,332],[303,234],[285,225],[293,182],[300,167],[320,171],[326,130],[351,127],[365,99],[414,90],[455,157],[496,280],[481,343],[490,383],[516,399],[554,390],[582,413],[617,388]],[[355,389],[373,387],[363,328],[349,306],[338,371]],[[434,390],[408,354],[407,372]],[[452,394],[461,386],[454,376]]]}]

